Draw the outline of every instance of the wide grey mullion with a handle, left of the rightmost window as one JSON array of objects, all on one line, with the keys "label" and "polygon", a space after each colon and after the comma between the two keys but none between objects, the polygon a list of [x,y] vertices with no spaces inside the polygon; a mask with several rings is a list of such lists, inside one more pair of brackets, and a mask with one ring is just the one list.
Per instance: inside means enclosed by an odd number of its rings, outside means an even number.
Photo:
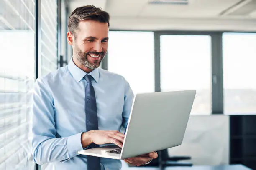
[{"label": "wide grey mullion with a handle, left of the rightmost window", "polygon": [[212,114],[223,114],[222,32],[212,33]]}]

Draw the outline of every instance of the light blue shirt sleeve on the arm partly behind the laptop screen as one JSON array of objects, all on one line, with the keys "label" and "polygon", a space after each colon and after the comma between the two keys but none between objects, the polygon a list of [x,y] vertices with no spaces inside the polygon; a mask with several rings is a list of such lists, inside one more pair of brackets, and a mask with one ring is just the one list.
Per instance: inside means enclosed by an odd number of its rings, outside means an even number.
[{"label": "light blue shirt sleeve on the arm partly behind the laptop screen", "polygon": [[130,112],[131,112],[131,107],[133,104],[133,98],[134,98],[133,91],[131,90],[129,83],[125,80],[125,95],[124,95],[124,105],[123,105],[123,113],[122,113],[122,117],[123,117],[122,126],[125,129],[125,132],[126,132]]}]

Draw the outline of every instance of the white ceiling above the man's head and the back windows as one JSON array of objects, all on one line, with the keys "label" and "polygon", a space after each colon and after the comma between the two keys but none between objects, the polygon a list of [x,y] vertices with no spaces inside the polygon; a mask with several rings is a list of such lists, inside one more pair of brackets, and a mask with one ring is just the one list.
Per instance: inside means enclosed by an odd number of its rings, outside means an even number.
[{"label": "white ceiling above the man's head and the back windows", "polygon": [[256,0],[188,0],[187,5],[148,2],[149,0],[69,0],[69,5],[71,11],[82,5],[101,7],[110,13],[112,29],[256,30]]}]

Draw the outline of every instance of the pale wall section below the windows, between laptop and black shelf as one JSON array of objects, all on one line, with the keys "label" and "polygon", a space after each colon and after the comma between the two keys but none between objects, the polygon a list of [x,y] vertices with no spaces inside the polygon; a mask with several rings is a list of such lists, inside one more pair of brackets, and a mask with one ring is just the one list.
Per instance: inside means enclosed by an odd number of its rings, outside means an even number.
[{"label": "pale wall section below the windows, between laptop and black shelf", "polygon": [[169,155],[189,155],[194,165],[229,164],[229,116],[191,116],[182,145]]}]

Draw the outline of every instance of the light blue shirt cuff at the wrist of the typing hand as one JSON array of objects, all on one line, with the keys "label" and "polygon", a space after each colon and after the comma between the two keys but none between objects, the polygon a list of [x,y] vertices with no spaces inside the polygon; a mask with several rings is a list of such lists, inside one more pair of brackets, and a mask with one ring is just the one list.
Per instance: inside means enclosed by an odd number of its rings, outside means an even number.
[{"label": "light blue shirt cuff at the wrist of the typing hand", "polygon": [[67,138],[67,148],[69,152],[69,158],[79,155],[77,151],[83,150],[82,143],[81,143],[81,135],[82,135],[82,132],[69,136]]}]

